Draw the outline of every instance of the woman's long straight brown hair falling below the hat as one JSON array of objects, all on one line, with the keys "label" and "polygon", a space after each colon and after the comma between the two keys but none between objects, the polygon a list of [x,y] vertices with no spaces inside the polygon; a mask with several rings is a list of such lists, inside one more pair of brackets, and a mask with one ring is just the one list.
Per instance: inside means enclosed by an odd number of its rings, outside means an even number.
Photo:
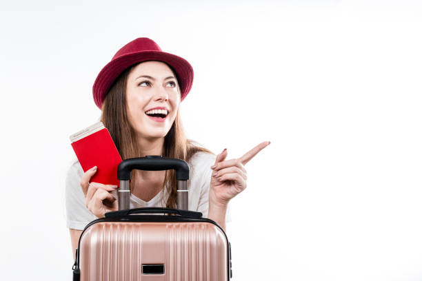
[{"label": "woman's long straight brown hair falling below the hat", "polygon": [[[141,155],[141,149],[137,142],[137,135],[128,121],[128,105],[126,104],[125,98],[128,76],[135,66],[136,65],[132,65],[131,67],[128,67],[114,81],[112,87],[110,87],[110,90],[106,94],[106,98],[104,99],[102,106],[101,122],[110,132],[114,144],[116,145],[117,150],[119,151],[119,154],[123,160],[145,156]],[[170,65],[168,65],[168,67],[170,67]],[[176,73],[172,67],[170,67],[170,69],[172,70],[173,74]],[[175,76],[177,77],[177,75]],[[179,90],[179,84],[177,87]],[[170,128],[168,134],[164,137],[162,156],[179,158],[188,161],[197,152],[208,152],[210,154],[214,154],[205,147],[201,147],[199,143],[186,138],[178,110],[172,127]],[[169,189],[169,197],[167,202],[165,202],[165,207],[176,208],[177,180],[174,170],[165,171],[163,186],[167,182],[169,183],[167,187]],[[134,185],[135,181],[132,171],[130,191],[133,191]]]}]

